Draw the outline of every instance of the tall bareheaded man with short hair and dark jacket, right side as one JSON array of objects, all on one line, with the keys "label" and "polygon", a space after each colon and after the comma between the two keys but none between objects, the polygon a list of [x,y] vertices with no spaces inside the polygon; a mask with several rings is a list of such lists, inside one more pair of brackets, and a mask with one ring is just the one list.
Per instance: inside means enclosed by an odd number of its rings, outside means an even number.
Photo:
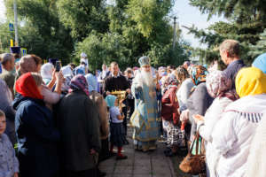
[{"label": "tall bareheaded man with short hair and dark jacket, right side", "polygon": [[235,79],[239,70],[246,66],[240,59],[240,45],[238,41],[227,39],[220,45],[220,56],[227,68],[223,71],[233,81],[232,89],[235,89]]}]

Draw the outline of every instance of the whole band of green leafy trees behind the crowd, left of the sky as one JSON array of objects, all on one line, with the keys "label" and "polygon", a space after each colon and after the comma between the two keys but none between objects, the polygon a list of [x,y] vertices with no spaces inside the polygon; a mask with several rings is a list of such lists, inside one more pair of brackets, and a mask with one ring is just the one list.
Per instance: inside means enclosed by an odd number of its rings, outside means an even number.
[{"label": "whole band of green leafy trees behind the crowd, left of the sky", "polygon": [[[14,35],[12,0],[4,0],[7,23],[0,24],[2,51]],[[17,0],[20,46],[41,58],[60,58],[63,64],[79,63],[88,55],[90,70],[117,61],[124,69],[138,65],[148,55],[153,65],[180,65],[188,59],[187,44],[172,47],[173,28],[168,13],[174,0]],[[180,31],[178,32],[180,34]]]}]

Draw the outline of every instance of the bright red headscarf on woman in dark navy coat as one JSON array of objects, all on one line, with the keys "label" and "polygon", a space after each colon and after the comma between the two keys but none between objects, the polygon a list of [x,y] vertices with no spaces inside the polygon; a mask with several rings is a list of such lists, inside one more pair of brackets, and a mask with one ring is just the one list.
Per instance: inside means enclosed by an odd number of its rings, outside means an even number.
[{"label": "bright red headscarf on woman in dark navy coat", "polygon": [[19,80],[16,81],[16,90],[22,96],[43,99],[31,73],[24,73],[20,76]]}]

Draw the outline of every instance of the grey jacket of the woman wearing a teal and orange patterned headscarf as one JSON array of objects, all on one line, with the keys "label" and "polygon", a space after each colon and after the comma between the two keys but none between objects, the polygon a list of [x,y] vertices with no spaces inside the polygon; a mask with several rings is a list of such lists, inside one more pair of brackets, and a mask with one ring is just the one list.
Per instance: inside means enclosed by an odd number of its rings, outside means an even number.
[{"label": "grey jacket of the woman wearing a teal and orange patterned headscarf", "polygon": [[[192,118],[195,114],[205,115],[207,108],[213,103],[214,98],[207,93],[206,83],[201,82],[187,100],[187,108],[190,111],[190,121],[192,123],[191,135],[195,135],[197,125]],[[192,138],[191,138],[192,141]]]}]

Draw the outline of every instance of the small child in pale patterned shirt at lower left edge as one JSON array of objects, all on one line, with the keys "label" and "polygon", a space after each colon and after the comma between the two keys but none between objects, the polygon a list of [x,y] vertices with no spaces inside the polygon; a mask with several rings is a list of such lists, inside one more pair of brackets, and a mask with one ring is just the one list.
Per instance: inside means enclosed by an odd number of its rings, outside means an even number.
[{"label": "small child in pale patterned shirt at lower left edge", "polygon": [[0,176],[18,177],[19,161],[15,156],[12,142],[4,134],[5,127],[5,114],[0,110]]}]

